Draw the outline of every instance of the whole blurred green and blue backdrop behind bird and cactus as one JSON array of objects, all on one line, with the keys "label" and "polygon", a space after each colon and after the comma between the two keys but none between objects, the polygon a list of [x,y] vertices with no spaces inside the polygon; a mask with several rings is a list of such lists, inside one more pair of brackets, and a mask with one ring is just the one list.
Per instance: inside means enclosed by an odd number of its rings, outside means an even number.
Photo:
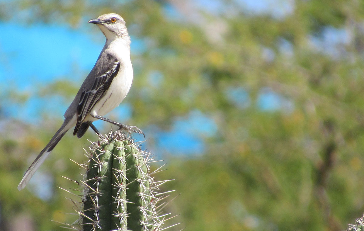
[{"label": "whole blurred green and blue backdrop behind bird and cactus", "polygon": [[0,0],[0,230],[78,218],[58,187],[77,188],[62,176],[82,179],[69,158],[87,160],[91,130],[16,187],[103,47],[87,21],[109,12],[134,82],[108,117],[175,179],[171,230],[335,231],[363,214],[364,1]]}]

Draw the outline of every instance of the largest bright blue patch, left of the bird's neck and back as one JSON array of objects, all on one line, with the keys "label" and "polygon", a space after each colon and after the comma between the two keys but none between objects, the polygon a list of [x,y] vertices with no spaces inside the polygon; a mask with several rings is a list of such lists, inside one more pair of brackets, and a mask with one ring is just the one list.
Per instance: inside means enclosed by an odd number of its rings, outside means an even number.
[{"label": "largest bright blue patch, left of the bird's neck and back", "polygon": [[65,77],[81,80],[81,73],[74,71],[92,68],[102,48],[91,35],[67,25],[0,22],[0,27],[0,49],[6,53],[1,59],[1,79],[20,91],[31,88],[34,82],[47,84]]}]

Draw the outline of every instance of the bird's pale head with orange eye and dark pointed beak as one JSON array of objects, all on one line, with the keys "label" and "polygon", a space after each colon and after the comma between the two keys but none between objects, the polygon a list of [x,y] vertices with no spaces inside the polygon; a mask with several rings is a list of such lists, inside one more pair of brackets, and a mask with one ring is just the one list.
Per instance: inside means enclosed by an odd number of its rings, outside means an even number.
[{"label": "bird's pale head with orange eye and dark pointed beak", "polygon": [[125,21],[116,13],[100,15],[97,19],[91,19],[88,23],[98,25],[107,40],[113,40],[115,37],[128,37]]}]

